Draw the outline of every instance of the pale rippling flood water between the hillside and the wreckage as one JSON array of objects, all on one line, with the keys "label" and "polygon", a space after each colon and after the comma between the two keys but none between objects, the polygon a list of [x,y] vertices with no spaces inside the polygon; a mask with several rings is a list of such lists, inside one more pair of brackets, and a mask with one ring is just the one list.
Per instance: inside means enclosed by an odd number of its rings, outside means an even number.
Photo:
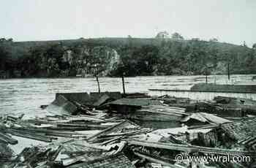
[{"label": "pale rippling flood water between the hillside and the wreckage", "polygon": [[[231,75],[230,83],[256,84],[256,75]],[[189,89],[195,83],[205,83],[205,76],[126,77],[128,92],[147,92],[148,88]],[[226,84],[226,75],[208,76],[209,83]],[[122,91],[121,78],[99,77],[101,91]],[[42,114],[42,104],[50,104],[59,92],[97,91],[95,78],[32,78],[0,80],[0,113],[25,113],[26,116]]]}]

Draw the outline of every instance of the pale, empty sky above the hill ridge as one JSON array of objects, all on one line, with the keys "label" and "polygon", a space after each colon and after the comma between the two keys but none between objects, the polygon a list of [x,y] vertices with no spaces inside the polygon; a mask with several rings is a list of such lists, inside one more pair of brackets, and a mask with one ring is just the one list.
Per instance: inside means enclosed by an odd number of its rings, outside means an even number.
[{"label": "pale, empty sky above the hill ridge", "polygon": [[217,38],[256,43],[255,0],[1,0],[0,37],[14,41],[94,37]]}]

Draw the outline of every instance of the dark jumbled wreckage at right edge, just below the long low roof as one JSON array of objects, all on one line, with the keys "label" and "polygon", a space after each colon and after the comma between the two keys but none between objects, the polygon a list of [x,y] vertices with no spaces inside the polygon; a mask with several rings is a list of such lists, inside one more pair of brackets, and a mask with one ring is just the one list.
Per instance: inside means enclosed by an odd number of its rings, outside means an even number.
[{"label": "dark jumbled wreckage at right edge, just below the long low roof", "polygon": [[227,96],[216,96],[213,101],[195,101],[186,98],[172,96],[160,96],[154,98],[170,107],[181,107],[186,112],[208,112],[227,118],[243,118],[247,115],[256,116],[256,101]]}]

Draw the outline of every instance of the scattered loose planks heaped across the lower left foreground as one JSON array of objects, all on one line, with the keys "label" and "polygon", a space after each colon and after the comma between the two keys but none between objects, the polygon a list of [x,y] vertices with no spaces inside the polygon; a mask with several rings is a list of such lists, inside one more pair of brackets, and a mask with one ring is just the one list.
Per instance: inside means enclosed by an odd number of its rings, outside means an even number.
[{"label": "scattered loose planks heaped across the lower left foreground", "polygon": [[0,145],[17,144],[18,140],[12,136],[48,142],[46,146],[24,148],[11,161],[4,160],[8,156],[10,158],[10,154],[5,152],[6,156],[0,160],[6,167],[96,167],[105,159],[110,161],[102,163],[102,166],[135,167],[127,156],[121,154],[126,146],[124,140],[151,131],[131,121],[106,118],[102,114],[53,115],[29,120],[7,115],[1,118],[0,123]]}]

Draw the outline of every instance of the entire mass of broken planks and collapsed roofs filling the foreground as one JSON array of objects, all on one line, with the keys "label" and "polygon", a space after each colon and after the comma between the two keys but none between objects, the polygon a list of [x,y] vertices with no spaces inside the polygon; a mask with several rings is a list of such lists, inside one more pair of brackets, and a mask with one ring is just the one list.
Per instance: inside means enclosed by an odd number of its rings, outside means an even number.
[{"label": "entire mass of broken planks and collapsed roofs filling the foreground", "polygon": [[[52,115],[1,115],[0,167],[256,167],[252,100],[57,93],[42,108]],[[13,151],[27,140],[42,144]],[[191,161],[189,156],[249,159]]]}]

